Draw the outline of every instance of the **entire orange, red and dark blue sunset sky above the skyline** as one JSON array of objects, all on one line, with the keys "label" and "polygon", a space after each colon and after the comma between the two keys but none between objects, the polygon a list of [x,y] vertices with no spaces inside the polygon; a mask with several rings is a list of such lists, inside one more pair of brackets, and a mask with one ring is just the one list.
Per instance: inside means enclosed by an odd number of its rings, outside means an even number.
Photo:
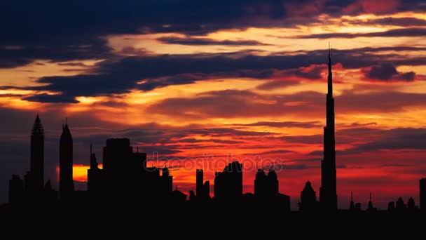
[{"label": "entire orange, red and dark blue sunset sky above the skyline", "polygon": [[130,138],[182,192],[196,168],[213,182],[241,161],[245,192],[274,168],[295,209],[307,180],[320,192],[330,43],[338,206],[418,203],[425,1],[7,1],[0,29],[0,202],[40,114],[54,186],[67,118],[77,189],[90,143],[102,163],[107,138]]}]

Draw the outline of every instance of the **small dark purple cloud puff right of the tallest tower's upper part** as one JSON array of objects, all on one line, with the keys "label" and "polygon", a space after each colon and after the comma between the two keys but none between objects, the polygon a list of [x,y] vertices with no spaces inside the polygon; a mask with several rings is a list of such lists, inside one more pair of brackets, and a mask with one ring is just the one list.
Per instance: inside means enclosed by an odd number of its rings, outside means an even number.
[{"label": "small dark purple cloud puff right of the tallest tower's upper part", "polygon": [[364,69],[364,74],[369,79],[385,81],[413,81],[415,77],[414,72],[398,72],[391,63],[382,63],[374,65],[371,69]]}]

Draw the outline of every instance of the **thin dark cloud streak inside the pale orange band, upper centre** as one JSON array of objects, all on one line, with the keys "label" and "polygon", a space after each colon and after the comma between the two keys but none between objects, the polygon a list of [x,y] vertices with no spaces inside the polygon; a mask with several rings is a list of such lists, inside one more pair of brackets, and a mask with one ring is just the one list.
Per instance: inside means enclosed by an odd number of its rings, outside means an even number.
[{"label": "thin dark cloud streak inside the pale orange band, upper centre", "polygon": [[269,45],[263,44],[259,41],[251,40],[214,40],[207,38],[195,38],[195,37],[174,37],[174,36],[165,36],[156,39],[163,44],[179,44],[179,45],[190,45],[190,46],[205,46],[205,45],[226,45],[226,46],[256,46],[256,45]]}]

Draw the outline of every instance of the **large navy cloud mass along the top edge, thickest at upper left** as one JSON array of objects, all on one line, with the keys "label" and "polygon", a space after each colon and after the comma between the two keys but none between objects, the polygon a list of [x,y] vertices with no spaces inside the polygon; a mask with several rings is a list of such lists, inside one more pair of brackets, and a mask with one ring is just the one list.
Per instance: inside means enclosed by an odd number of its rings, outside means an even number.
[{"label": "large navy cloud mass along the top edge, thickest at upper left", "polygon": [[[387,8],[387,11],[425,11],[422,1],[409,3]],[[25,65],[36,59],[58,61],[107,58],[111,56],[111,49],[104,37],[114,34],[179,32],[202,35],[218,29],[294,27],[319,22],[316,16],[324,13],[333,16],[355,15],[371,13],[373,9],[358,4],[353,11],[347,11],[350,6],[354,6],[353,1],[8,1],[0,9],[0,67]],[[412,25],[421,24],[409,18],[383,21],[383,24],[391,22],[401,25],[402,21],[411,22]],[[395,21],[399,22],[392,23]],[[424,32],[421,29],[397,29],[387,34],[423,36]],[[336,36],[346,37],[348,34]],[[186,44],[193,43],[190,41]],[[204,41],[198,44],[210,43]],[[232,45],[233,42],[224,41],[222,44]]]}]

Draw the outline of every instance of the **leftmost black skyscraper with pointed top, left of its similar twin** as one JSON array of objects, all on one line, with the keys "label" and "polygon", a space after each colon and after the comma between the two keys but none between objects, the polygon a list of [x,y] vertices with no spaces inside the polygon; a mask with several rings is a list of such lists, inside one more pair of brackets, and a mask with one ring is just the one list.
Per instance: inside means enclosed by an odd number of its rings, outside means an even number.
[{"label": "leftmost black skyscraper with pointed top, left of its similar twin", "polygon": [[44,129],[39,114],[31,130],[29,172],[25,185],[30,192],[41,192],[44,187]]}]

